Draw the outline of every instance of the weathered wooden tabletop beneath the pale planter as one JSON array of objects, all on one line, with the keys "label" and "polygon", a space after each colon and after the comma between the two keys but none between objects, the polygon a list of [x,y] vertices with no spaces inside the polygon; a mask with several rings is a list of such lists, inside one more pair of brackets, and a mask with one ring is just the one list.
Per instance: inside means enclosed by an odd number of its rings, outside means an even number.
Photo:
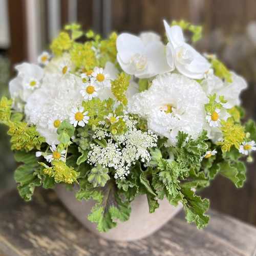
[{"label": "weathered wooden tabletop beneath the pale planter", "polygon": [[256,229],[215,211],[205,230],[179,214],[153,236],[127,243],[105,241],[81,227],[53,191],[38,190],[31,203],[12,191],[0,202],[0,255],[255,255]]}]

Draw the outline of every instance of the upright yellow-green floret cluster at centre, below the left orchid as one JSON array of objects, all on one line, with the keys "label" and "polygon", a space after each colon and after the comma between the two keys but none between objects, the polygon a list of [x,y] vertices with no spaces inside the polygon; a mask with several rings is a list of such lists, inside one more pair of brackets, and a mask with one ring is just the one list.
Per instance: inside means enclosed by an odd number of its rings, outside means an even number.
[{"label": "upright yellow-green floret cluster at centre, below the left orchid", "polygon": [[127,99],[125,96],[125,92],[130,84],[130,76],[126,75],[124,72],[122,72],[118,77],[111,82],[111,91],[124,105],[127,104]]}]

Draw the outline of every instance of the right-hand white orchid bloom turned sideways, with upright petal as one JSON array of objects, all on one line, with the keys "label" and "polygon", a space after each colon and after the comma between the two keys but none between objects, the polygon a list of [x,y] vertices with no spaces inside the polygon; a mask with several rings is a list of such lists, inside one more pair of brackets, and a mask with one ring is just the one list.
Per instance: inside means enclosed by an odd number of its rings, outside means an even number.
[{"label": "right-hand white orchid bloom turned sideways, with upright petal", "polygon": [[164,20],[164,27],[168,44],[166,46],[166,58],[172,70],[175,68],[183,75],[202,79],[210,68],[210,63],[193,47],[186,44],[180,26],[170,27]]}]

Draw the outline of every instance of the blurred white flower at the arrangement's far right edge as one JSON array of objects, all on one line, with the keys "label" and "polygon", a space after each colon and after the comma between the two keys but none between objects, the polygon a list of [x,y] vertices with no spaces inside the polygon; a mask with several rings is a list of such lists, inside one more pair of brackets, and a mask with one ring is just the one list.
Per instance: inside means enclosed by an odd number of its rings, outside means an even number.
[{"label": "blurred white flower at the arrangement's far right edge", "polygon": [[240,105],[240,94],[243,90],[247,88],[247,82],[245,79],[234,72],[231,73],[232,82],[223,82],[219,77],[211,74],[207,76],[202,82],[202,88],[207,95],[215,94],[217,95],[217,100],[219,96],[224,96],[227,103],[223,106],[226,109],[230,109],[233,106]]}]

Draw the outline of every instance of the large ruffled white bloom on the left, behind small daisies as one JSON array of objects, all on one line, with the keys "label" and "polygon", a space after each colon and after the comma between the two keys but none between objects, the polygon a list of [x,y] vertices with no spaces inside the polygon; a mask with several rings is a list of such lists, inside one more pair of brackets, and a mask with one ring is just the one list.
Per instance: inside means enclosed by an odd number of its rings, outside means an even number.
[{"label": "large ruffled white bloom on the left, behind small daisies", "polygon": [[41,87],[27,100],[25,114],[30,124],[46,138],[48,144],[57,144],[57,133],[49,127],[49,120],[69,119],[72,109],[80,106],[83,100],[80,94],[81,79],[75,75],[47,74]]}]

